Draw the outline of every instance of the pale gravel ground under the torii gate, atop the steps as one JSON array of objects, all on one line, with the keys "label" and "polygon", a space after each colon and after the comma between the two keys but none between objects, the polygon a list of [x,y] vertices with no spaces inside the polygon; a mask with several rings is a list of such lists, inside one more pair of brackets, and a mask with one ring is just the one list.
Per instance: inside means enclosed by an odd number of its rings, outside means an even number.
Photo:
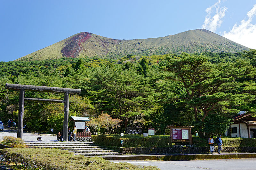
[{"label": "pale gravel ground under the torii gate, atop the steps", "polygon": [[[3,136],[17,137],[17,129],[5,128],[3,131],[0,131],[0,141],[3,141]],[[42,141],[57,141],[56,135],[55,136],[51,134],[41,135],[33,132],[23,131],[22,139],[25,142],[34,142],[37,140],[37,137],[42,137]]]}]

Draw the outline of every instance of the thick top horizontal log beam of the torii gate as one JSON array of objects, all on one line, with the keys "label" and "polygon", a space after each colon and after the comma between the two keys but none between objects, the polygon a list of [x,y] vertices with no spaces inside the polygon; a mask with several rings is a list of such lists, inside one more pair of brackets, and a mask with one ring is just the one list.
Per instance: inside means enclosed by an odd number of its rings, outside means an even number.
[{"label": "thick top horizontal log beam of the torii gate", "polygon": [[29,90],[29,91],[40,91],[40,92],[58,92],[58,93],[75,93],[80,94],[81,89],[69,89],[69,88],[60,88],[60,87],[47,87],[39,85],[18,85],[18,84],[5,84],[5,89],[10,90]]}]

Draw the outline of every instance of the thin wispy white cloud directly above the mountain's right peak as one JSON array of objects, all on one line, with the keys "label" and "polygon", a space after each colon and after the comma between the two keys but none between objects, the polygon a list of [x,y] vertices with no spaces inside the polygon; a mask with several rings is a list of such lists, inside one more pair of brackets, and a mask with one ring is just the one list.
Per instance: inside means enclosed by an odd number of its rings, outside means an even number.
[{"label": "thin wispy white cloud directly above the mountain's right peak", "polygon": [[[220,8],[220,0],[218,0],[211,7],[206,8],[205,12],[207,16],[205,16],[203,28],[215,32],[218,27],[220,27],[222,23],[222,18],[225,16],[225,12],[227,11],[227,7]],[[215,12],[215,15],[212,17],[212,13]]]}]

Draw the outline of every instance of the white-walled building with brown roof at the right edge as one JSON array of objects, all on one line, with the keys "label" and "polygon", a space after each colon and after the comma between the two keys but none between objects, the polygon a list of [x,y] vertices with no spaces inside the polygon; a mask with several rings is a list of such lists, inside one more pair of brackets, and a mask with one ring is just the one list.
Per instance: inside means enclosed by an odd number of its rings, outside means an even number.
[{"label": "white-walled building with brown roof at the right edge", "polygon": [[[256,138],[256,117],[245,111],[240,111],[232,117],[231,137]],[[228,130],[225,132],[228,136]]]}]

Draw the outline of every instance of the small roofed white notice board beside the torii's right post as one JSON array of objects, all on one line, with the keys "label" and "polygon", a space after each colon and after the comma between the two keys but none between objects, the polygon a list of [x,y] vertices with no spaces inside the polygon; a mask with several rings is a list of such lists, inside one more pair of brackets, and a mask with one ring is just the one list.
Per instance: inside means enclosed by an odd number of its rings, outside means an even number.
[{"label": "small roofed white notice board beside the torii's right post", "polygon": [[83,132],[76,132],[77,137],[91,137],[91,132],[85,132],[86,121],[90,121],[89,117],[71,116],[70,121],[74,121],[77,130],[83,130]]}]

